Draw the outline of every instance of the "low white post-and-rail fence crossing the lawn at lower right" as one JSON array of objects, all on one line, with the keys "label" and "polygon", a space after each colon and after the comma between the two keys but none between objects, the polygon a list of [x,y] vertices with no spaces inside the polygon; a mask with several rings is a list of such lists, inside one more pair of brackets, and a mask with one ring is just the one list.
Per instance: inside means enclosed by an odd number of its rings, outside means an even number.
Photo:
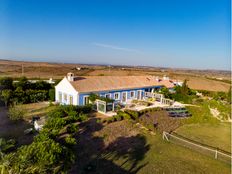
[{"label": "low white post-and-rail fence crossing the lawn at lower right", "polygon": [[219,148],[203,145],[201,143],[189,140],[189,139],[187,139],[185,137],[181,137],[179,135],[169,134],[169,133],[164,131],[163,132],[163,139],[165,139],[169,142],[187,147],[189,149],[198,151],[202,154],[211,156],[217,160],[221,160],[221,161],[228,162],[228,163],[231,163],[231,160],[232,160],[232,156],[229,152],[223,151]]}]

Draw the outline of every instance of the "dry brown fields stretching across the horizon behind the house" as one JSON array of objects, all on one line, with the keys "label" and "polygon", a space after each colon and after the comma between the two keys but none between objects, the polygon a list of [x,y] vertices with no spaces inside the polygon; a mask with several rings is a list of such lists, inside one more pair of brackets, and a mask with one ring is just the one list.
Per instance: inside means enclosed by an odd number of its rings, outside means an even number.
[{"label": "dry brown fields stretching across the horizon behind the house", "polygon": [[[81,67],[81,70],[77,70]],[[74,72],[77,76],[125,76],[125,75],[152,75],[162,77],[167,75],[172,79],[188,80],[192,89],[203,89],[209,91],[228,91],[230,84],[229,71],[215,70],[184,70],[171,68],[153,67],[129,67],[129,66],[105,66],[105,65],[83,65],[62,64],[45,62],[20,62],[0,60],[0,77],[10,76],[13,78],[22,75],[33,79],[62,79],[68,72]],[[218,80],[222,78],[223,80]]]}]

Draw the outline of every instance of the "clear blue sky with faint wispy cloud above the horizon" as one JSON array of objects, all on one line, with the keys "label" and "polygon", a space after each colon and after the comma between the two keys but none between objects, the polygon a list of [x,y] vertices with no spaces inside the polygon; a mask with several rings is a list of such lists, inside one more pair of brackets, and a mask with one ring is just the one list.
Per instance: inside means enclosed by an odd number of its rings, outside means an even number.
[{"label": "clear blue sky with faint wispy cloud above the horizon", "polygon": [[230,70],[230,0],[0,0],[0,59]]}]

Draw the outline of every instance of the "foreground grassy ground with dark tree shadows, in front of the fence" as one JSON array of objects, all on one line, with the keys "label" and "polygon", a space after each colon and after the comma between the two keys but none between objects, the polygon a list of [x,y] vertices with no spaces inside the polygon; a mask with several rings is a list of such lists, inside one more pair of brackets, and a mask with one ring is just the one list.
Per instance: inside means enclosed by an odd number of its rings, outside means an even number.
[{"label": "foreground grassy ground with dark tree shadows, in front of the fence", "polygon": [[126,120],[103,126],[91,119],[82,126],[76,146],[82,160],[70,173],[230,173],[229,164],[166,142]]}]

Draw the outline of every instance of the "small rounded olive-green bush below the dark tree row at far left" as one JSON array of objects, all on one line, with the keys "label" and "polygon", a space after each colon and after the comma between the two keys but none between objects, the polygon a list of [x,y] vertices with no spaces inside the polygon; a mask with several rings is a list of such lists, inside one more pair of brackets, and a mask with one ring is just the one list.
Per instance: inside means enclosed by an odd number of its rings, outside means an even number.
[{"label": "small rounded olive-green bush below the dark tree row at far left", "polygon": [[20,106],[11,106],[9,108],[8,116],[12,121],[22,120],[26,111]]}]

